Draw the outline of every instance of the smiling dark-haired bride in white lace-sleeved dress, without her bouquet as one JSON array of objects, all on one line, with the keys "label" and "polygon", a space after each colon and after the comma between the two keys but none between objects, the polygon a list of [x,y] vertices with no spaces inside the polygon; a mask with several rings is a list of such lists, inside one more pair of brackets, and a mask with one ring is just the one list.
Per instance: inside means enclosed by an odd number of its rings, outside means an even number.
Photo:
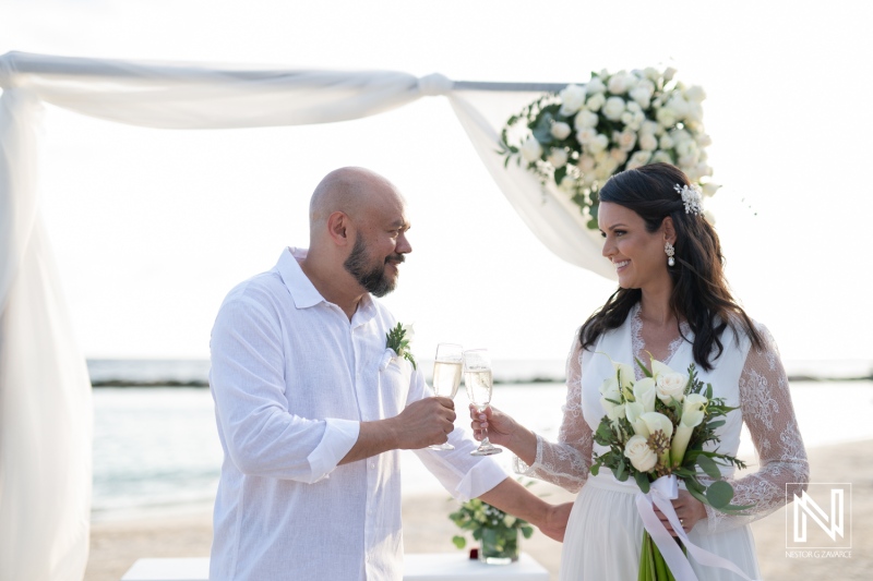
[{"label": "smiling dark-haired bride in white lace-sleeved dress, without her bouquet", "polygon": [[[715,397],[738,408],[718,428],[719,451],[737,453],[745,422],[761,463],[742,477],[722,469],[736,493],[733,504],[753,505],[748,511],[728,516],[685,491],[673,508],[691,542],[755,579],[760,573],[749,523],[782,506],[787,492],[800,494],[809,481],[776,344],[731,296],[718,235],[684,173],[667,164],[643,166],[613,175],[599,195],[602,254],[615,267],[619,289],[573,340],[558,443],[546,441],[494,408],[482,414],[471,409],[474,432],[481,438],[487,428],[492,443],[516,455],[523,474],[579,492],[564,537],[560,579],[636,579],[643,538],[634,503],[638,488],[633,479],[619,482],[606,469],[597,476],[589,473],[593,453],[608,451],[593,440],[603,416],[599,387],[614,373],[610,358],[632,363],[649,361],[650,354],[673,370],[694,362]],[[596,356],[598,352],[609,358]],[[641,370],[633,366],[641,379]],[[738,579],[694,559],[691,565],[702,580]]]}]

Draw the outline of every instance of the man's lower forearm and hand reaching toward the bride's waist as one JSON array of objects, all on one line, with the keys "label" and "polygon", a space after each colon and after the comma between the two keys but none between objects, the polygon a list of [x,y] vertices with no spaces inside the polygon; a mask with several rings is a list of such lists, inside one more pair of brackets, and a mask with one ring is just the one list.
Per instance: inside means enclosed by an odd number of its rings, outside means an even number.
[{"label": "man's lower forearm and hand reaching toward the bride's waist", "polygon": [[564,540],[566,521],[570,519],[570,510],[573,508],[573,503],[551,505],[531,494],[511,477],[479,496],[479,499],[516,518],[526,520],[542,531],[545,535],[559,542]]}]

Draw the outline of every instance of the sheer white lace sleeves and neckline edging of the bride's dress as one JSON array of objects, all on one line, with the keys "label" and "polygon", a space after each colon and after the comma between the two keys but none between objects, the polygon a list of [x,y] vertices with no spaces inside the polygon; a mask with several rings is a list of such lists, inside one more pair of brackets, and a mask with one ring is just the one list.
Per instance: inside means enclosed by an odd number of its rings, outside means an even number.
[{"label": "sheer white lace sleeves and neckline edging of the bride's dress", "polygon": [[[647,361],[647,356],[642,356],[646,349],[636,308],[629,316],[629,323],[634,355]],[[740,374],[739,399],[742,420],[752,436],[760,468],[743,477],[728,479],[734,489],[733,503],[754,506],[743,515],[730,516],[706,507],[706,525],[710,533],[769,515],[785,504],[787,484],[809,481],[809,462],[791,404],[788,378],[769,331],[763,326],[758,330],[764,337],[764,346],[749,349]],[[683,342],[680,337],[670,344],[665,363],[669,364]],[[558,441],[550,443],[537,435],[535,463],[527,467],[516,459],[515,464],[516,471],[525,475],[546,480],[571,492],[578,492],[588,479],[594,451],[593,431],[597,428],[585,420],[583,413],[582,361],[583,350],[576,334],[567,358],[567,395]],[[602,411],[597,410],[595,415],[599,417]]]}]

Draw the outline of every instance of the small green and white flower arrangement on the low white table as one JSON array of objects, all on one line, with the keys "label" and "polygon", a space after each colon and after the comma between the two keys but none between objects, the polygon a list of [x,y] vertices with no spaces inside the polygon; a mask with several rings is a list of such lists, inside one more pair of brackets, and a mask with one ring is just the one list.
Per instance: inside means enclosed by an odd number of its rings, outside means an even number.
[{"label": "small green and white flower arrangement on the low white table", "polygon": [[[525,538],[530,538],[534,534],[534,526],[527,521],[506,515],[478,498],[463,503],[449,518],[462,531],[470,532],[476,541],[493,546],[494,557],[517,556],[518,532]],[[463,534],[453,536],[452,542],[457,548],[467,546],[467,538]]]}]

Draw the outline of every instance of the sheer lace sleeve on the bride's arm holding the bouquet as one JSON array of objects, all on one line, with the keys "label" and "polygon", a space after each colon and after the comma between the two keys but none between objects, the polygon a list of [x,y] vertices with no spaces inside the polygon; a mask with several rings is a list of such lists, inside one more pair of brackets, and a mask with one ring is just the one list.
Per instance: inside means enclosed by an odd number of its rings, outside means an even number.
[{"label": "sheer lace sleeve on the bride's arm holding the bouquet", "polygon": [[749,350],[740,376],[740,408],[752,435],[761,468],[748,476],[729,481],[733,504],[754,505],[742,515],[725,515],[706,507],[710,533],[733,529],[766,517],[786,503],[788,493],[800,494],[810,480],[806,449],[794,417],[788,377],[773,337],[758,326],[764,348]]}]

